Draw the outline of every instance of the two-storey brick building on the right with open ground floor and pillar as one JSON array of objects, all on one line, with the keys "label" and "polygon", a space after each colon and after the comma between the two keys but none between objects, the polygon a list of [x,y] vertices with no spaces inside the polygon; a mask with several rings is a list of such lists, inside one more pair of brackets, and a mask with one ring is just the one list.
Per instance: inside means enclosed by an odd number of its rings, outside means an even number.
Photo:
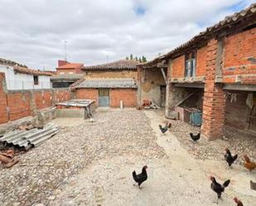
[{"label": "two-storey brick building on the right with open ground floor and pillar", "polygon": [[201,132],[210,140],[225,126],[256,132],[256,4],[138,65],[138,93],[146,81],[155,82],[149,69],[166,80],[167,117],[176,110],[186,121],[185,110],[200,111]]}]

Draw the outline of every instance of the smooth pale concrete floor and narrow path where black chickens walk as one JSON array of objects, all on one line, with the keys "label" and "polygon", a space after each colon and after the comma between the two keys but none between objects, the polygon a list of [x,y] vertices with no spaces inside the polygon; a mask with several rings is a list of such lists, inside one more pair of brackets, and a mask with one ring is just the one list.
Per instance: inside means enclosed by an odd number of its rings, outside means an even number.
[{"label": "smooth pale concrete floor and narrow path where black chickens walk", "polygon": [[[193,159],[171,132],[166,135],[159,132],[162,117],[153,111],[142,113],[150,119],[157,144],[167,156],[147,158],[117,153],[94,161],[56,189],[56,199],[50,205],[211,206],[216,205],[216,194],[210,189],[210,175],[220,182],[231,179],[219,205],[235,205],[234,196],[244,205],[256,205],[256,191],[249,189],[249,180],[255,180],[255,173],[239,165],[228,170],[223,160]],[[148,166],[148,180],[138,189],[133,186],[132,171],[141,170],[142,165]]]}]

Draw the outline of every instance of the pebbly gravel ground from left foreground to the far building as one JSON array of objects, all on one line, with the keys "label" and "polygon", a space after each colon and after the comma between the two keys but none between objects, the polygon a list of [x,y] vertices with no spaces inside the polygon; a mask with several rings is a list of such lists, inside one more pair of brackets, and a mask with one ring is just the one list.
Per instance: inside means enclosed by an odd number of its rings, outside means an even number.
[{"label": "pebbly gravel ground from left foreground to the far building", "polygon": [[122,155],[162,158],[150,122],[142,111],[98,113],[95,122],[64,127],[41,146],[18,156],[11,169],[0,168],[0,205],[48,204],[53,191],[93,161]]}]

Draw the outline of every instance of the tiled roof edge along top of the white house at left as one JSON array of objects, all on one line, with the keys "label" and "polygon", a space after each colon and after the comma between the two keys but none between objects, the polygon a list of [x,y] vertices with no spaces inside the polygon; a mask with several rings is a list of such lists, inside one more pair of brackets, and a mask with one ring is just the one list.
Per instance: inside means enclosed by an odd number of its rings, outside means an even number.
[{"label": "tiled roof edge along top of the white house at left", "polygon": [[12,66],[13,70],[17,73],[22,73],[22,74],[31,74],[31,75],[46,75],[46,76],[51,76],[51,72],[46,72],[46,71],[41,71],[38,69],[28,69],[26,65],[21,65],[18,64],[15,61],[12,60],[5,60],[0,58],[0,65],[8,65]]}]

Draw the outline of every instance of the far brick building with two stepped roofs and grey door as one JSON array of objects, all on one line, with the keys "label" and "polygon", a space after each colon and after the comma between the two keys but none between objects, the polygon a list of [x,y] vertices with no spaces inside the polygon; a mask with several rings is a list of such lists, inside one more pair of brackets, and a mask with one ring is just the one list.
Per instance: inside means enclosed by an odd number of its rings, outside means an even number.
[{"label": "far brick building with two stepped roofs and grey door", "polygon": [[137,64],[135,60],[118,60],[104,65],[85,66],[84,79],[72,85],[76,98],[89,98],[99,107],[136,107]]}]

